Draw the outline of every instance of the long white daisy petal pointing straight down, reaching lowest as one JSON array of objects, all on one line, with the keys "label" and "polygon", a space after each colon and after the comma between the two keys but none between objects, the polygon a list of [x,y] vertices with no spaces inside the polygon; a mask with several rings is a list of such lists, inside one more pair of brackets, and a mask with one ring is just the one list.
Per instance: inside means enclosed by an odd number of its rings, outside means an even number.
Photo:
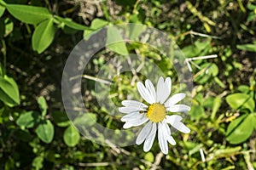
[{"label": "long white daisy petal pointing straight down, reaching lowest", "polygon": [[160,150],[164,153],[168,153],[168,144],[166,140],[166,127],[163,126],[161,122],[158,123],[158,141],[160,145]]}]

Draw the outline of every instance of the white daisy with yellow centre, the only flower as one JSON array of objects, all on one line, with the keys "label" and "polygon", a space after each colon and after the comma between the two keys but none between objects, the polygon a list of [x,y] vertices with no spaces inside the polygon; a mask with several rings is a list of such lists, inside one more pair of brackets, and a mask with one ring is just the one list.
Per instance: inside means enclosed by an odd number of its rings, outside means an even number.
[{"label": "white daisy with yellow centre, the only flower", "polygon": [[[190,132],[189,127],[181,122],[183,117],[173,114],[190,110],[188,105],[177,104],[184,99],[185,94],[174,94],[169,97],[171,88],[170,77],[167,77],[166,80],[160,77],[156,90],[148,79],[145,86],[142,82],[137,82],[137,90],[148,105],[136,100],[124,100],[122,105],[125,107],[119,107],[119,111],[126,114],[121,118],[121,121],[125,122],[124,128],[137,127],[147,122],[136,139],[136,144],[144,142],[143,150],[146,152],[151,149],[156,132],[158,132],[160,150],[164,154],[168,153],[168,142],[172,145],[176,144],[168,124],[182,133]],[[167,115],[167,111],[170,111],[172,115]]]}]

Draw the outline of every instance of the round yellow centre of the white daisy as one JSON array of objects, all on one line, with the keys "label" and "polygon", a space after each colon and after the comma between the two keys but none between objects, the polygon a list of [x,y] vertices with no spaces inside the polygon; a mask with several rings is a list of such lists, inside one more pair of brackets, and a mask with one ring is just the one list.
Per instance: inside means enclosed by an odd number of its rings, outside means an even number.
[{"label": "round yellow centre of the white daisy", "polygon": [[147,116],[151,122],[161,122],[166,117],[166,107],[160,103],[149,105]]}]

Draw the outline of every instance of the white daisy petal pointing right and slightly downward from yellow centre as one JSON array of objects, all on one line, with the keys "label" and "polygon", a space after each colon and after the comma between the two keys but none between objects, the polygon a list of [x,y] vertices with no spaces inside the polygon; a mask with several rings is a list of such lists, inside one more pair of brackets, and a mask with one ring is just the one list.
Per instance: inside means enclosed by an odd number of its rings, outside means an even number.
[{"label": "white daisy petal pointing right and slightly downward from yellow centre", "polygon": [[178,115],[166,116],[166,122],[170,123],[172,127],[182,133],[190,133],[189,127],[186,127],[183,122],[181,122],[182,119],[183,117]]}]

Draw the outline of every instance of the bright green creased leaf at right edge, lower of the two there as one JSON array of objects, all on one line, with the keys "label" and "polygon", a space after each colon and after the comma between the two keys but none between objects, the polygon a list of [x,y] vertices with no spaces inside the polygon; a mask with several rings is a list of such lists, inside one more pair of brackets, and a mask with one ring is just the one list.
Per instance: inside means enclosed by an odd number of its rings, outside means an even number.
[{"label": "bright green creased leaf at right edge, lower of the two there", "polygon": [[230,144],[240,144],[247,140],[253,133],[253,114],[246,114],[230,122],[226,137]]}]

